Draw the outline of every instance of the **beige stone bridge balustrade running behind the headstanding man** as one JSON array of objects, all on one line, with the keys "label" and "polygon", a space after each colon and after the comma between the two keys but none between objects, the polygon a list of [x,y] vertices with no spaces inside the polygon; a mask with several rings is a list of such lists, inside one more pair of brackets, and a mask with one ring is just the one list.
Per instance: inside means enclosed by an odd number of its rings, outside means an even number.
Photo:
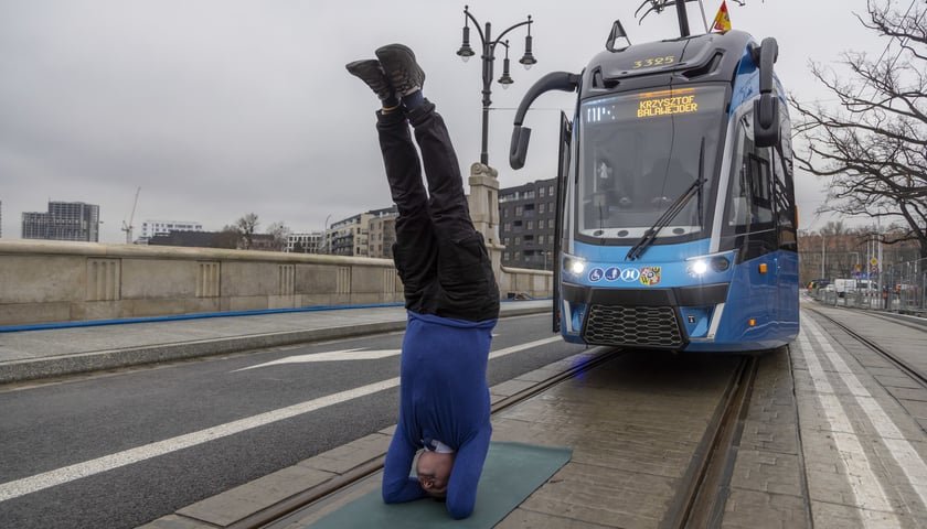
[{"label": "beige stone bridge balustrade running behind the headstanding man", "polygon": [[[503,298],[552,291],[546,271],[497,264],[497,280]],[[388,259],[0,240],[0,326],[402,301]]]}]

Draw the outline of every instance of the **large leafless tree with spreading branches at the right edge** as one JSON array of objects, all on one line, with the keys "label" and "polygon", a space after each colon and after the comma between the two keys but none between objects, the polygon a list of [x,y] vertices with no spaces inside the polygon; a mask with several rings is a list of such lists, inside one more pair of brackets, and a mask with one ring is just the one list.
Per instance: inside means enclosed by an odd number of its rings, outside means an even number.
[{"label": "large leafless tree with spreading branches at the right edge", "polygon": [[840,104],[831,109],[789,96],[799,114],[795,131],[808,141],[795,158],[830,179],[819,212],[899,220],[905,229],[884,241],[917,240],[927,257],[927,7],[913,0],[901,12],[870,0],[866,8],[856,18],[887,40],[885,52],[875,60],[845,52],[839,64],[850,75],[811,63]]}]

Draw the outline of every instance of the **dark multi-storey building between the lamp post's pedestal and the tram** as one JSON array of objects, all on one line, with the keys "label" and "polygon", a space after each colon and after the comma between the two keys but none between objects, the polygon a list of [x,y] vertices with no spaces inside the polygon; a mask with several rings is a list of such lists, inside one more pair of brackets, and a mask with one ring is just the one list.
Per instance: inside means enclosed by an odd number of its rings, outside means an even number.
[{"label": "dark multi-storey building between the lamp post's pedestal and the tram", "polygon": [[499,190],[502,264],[553,269],[556,179]]}]

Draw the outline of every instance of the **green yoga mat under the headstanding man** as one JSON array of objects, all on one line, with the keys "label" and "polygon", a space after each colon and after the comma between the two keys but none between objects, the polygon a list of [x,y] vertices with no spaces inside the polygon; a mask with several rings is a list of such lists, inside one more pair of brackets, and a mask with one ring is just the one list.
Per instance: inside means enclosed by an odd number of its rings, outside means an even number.
[{"label": "green yoga mat under the headstanding man", "polygon": [[445,504],[419,499],[386,505],[380,489],[366,494],[306,527],[343,528],[488,528],[518,507],[573,455],[571,449],[520,443],[490,443],[477,488],[477,506],[464,520],[454,520]]}]

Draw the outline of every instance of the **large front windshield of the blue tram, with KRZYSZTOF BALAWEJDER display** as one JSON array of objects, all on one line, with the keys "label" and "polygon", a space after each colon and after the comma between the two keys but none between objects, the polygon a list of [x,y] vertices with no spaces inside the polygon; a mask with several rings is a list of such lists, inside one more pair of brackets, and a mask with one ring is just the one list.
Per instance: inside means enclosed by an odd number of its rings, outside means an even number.
[{"label": "large front windshield of the blue tram, with KRZYSZTOF BALAWEJDER display", "polygon": [[658,238],[700,234],[713,203],[705,192],[713,188],[716,173],[715,158],[726,116],[724,101],[725,87],[715,85],[584,102],[577,235],[631,244],[692,190],[701,174],[705,180],[699,195],[684,202]]}]

